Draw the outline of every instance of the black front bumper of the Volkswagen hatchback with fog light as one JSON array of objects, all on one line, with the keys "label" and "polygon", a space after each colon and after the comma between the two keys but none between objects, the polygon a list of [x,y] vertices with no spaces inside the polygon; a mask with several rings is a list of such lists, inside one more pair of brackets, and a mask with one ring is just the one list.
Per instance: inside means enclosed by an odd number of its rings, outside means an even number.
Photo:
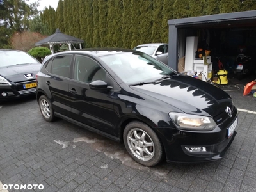
[{"label": "black front bumper of the Volkswagen hatchback with fog light", "polygon": [[[157,128],[166,153],[167,162],[199,163],[221,159],[230,147],[237,132],[228,138],[228,130],[237,116],[227,120],[212,131],[181,131],[172,128]],[[167,136],[170,136],[168,138]]]}]

